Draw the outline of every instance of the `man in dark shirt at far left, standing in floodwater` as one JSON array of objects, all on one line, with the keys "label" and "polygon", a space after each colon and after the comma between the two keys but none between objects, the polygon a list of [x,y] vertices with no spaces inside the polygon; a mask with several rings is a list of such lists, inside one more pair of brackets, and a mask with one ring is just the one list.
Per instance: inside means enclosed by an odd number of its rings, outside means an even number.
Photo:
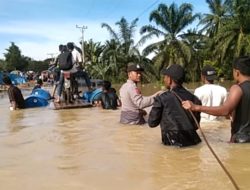
[{"label": "man in dark shirt at far left, standing in floodwater", "polygon": [[3,77],[3,82],[8,88],[8,96],[11,104],[10,110],[24,108],[24,98],[21,90],[12,84],[11,79],[8,76]]}]

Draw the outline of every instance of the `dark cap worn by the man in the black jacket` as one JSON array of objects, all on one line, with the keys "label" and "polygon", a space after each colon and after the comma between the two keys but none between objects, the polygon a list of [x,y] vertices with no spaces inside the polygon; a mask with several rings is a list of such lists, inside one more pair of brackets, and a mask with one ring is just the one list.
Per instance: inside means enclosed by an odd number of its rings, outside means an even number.
[{"label": "dark cap worn by the man in the black jacket", "polygon": [[182,84],[185,79],[184,69],[178,64],[173,64],[163,69],[162,74],[170,76],[175,82],[179,84]]}]

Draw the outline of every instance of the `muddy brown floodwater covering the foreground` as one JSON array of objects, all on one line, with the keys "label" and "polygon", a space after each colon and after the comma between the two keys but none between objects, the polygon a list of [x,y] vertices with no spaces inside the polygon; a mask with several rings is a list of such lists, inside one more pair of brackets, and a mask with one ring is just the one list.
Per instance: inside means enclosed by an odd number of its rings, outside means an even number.
[{"label": "muddy brown floodwater covering the foreground", "polygon": [[[10,111],[0,93],[0,189],[234,189],[204,140],[164,146],[159,127],[122,125],[119,115],[96,107]],[[240,189],[250,189],[250,145],[227,143],[229,121],[201,127]]]}]

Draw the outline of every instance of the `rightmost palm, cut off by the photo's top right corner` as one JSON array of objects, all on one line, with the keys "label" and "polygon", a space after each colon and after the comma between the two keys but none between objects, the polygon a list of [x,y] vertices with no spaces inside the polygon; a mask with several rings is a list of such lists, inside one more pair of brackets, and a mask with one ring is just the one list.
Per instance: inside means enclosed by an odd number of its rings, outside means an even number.
[{"label": "rightmost palm, cut off by the photo's top right corner", "polygon": [[225,62],[250,53],[250,1],[231,0],[228,2],[230,16],[215,36],[215,53]]}]

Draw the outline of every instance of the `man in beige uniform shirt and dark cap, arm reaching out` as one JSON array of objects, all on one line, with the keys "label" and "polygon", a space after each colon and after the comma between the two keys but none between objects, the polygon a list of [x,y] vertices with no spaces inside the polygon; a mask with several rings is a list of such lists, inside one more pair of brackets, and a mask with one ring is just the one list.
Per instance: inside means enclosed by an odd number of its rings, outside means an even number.
[{"label": "man in beige uniform shirt and dark cap, arm reaching out", "polygon": [[141,74],[144,69],[135,63],[129,63],[127,66],[128,80],[120,88],[121,97],[121,117],[120,122],[123,124],[142,125],[145,123],[143,110],[154,102],[154,97],[162,91],[152,96],[142,96],[137,84],[141,81]]}]

